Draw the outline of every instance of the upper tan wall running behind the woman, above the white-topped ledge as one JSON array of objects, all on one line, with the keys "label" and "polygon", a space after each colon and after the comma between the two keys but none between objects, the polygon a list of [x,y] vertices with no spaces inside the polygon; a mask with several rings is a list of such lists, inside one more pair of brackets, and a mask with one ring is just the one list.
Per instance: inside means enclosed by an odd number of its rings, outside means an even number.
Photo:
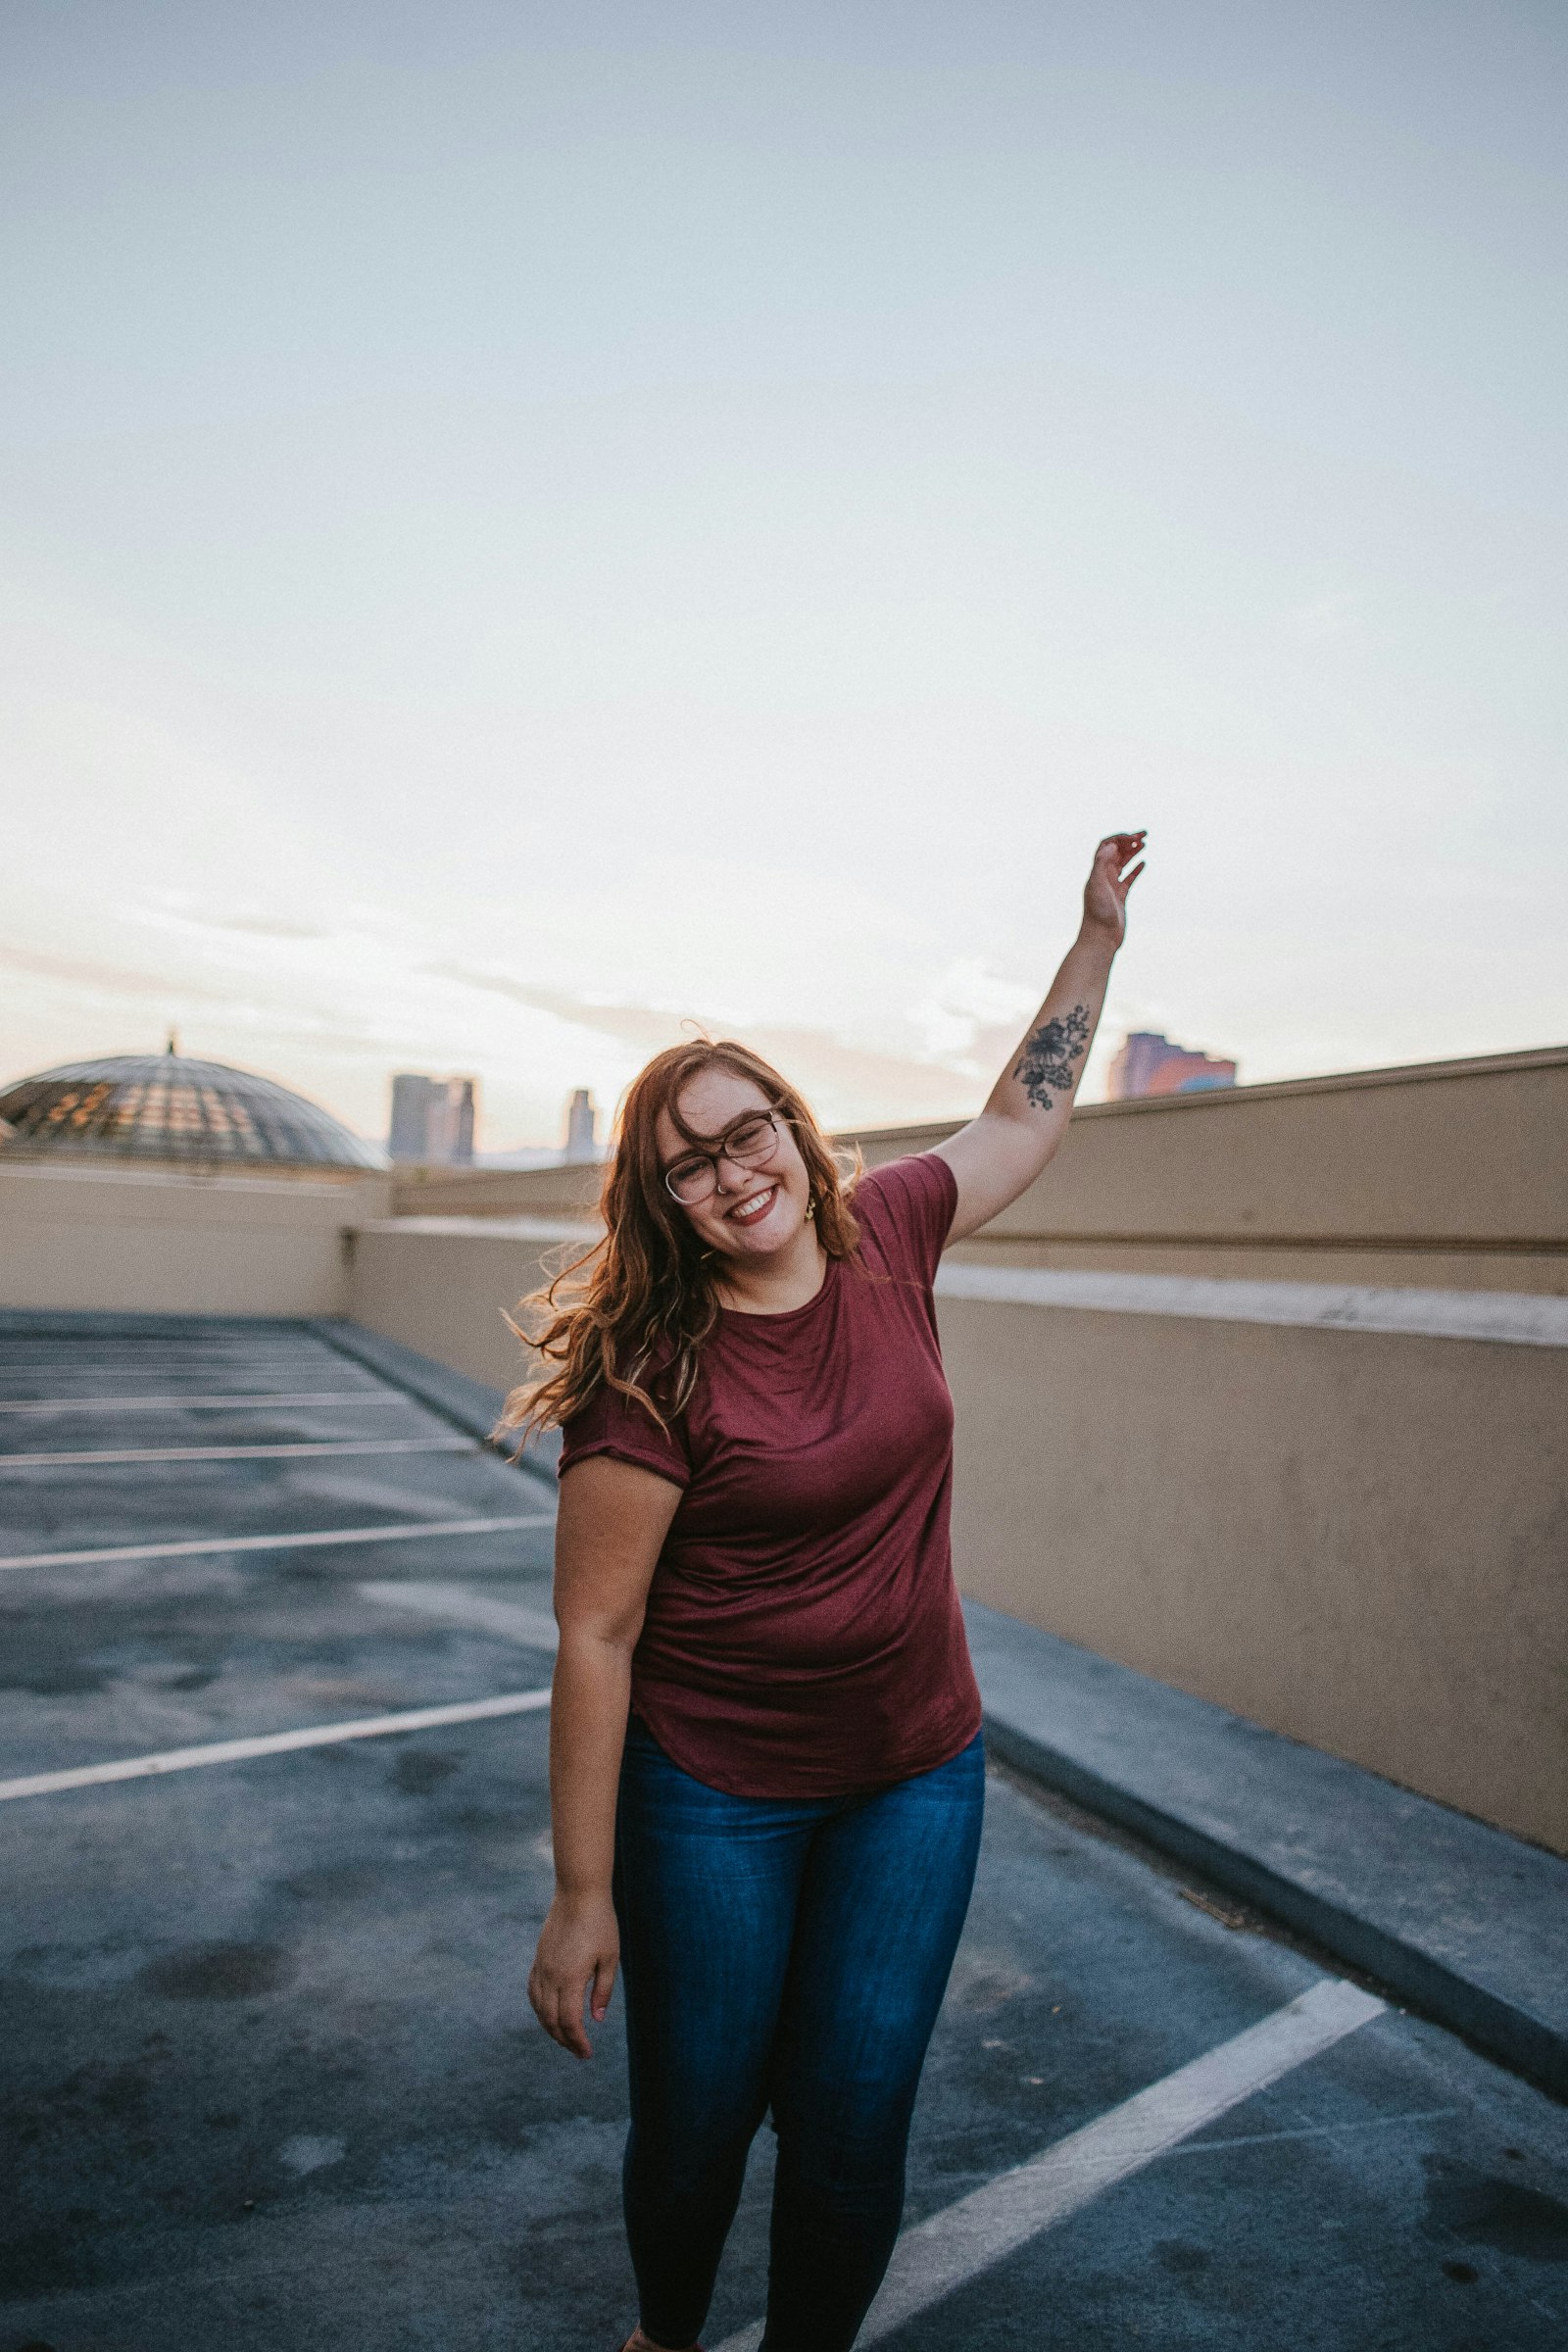
[{"label": "upper tan wall running behind the woman, above the white-topped ledge", "polygon": [[[875,1129],[865,1157],[952,1122]],[[959,1256],[1001,1265],[1568,1294],[1568,1047],[1084,1105]],[[597,1169],[449,1171],[395,1207],[574,1216]]]}]

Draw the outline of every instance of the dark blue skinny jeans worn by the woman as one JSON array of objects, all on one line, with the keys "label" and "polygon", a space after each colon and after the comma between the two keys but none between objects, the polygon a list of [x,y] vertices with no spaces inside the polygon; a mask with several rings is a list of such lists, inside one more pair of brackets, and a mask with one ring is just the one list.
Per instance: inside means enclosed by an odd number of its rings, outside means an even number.
[{"label": "dark blue skinny jeans worn by the woman", "polygon": [[914,2089],[969,1910],[980,1738],[865,1797],[726,1797],[632,1719],[616,1912],[642,2326],[693,2343],[766,2110],[764,2352],[849,2352],[893,2253]]}]

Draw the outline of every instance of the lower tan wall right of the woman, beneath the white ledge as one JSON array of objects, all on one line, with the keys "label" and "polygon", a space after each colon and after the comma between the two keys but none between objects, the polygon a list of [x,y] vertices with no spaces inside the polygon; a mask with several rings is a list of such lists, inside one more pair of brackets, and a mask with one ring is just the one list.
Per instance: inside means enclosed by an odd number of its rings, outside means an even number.
[{"label": "lower tan wall right of the woman, beneath the white ledge", "polygon": [[940,1329],[966,1592],[1568,1851],[1568,1348]]}]

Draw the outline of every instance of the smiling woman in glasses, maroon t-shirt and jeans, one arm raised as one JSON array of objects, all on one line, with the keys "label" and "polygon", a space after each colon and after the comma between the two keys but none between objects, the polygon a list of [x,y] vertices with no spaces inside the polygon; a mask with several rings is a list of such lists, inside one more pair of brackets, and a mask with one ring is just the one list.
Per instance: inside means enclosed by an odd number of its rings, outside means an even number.
[{"label": "smiling woman in glasses, maroon t-shirt and jeans, one arm raised", "polygon": [[846,2352],[903,2211],[910,2110],[980,1842],[931,1279],[1072,1115],[1143,833],[978,1120],[844,1190],[806,1105],[708,1040],[632,1082],[607,1240],[543,1294],[559,1369],[555,1900],[529,1999],[590,2056],[625,1971],[625,2227],[684,2352],[745,2157],[778,2133],[764,2352]]}]

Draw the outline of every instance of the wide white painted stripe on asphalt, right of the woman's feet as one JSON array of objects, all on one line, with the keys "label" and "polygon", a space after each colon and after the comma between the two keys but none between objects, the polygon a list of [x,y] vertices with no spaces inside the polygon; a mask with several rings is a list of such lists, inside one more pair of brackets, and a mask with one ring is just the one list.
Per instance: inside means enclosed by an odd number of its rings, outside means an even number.
[{"label": "wide white painted stripe on asphalt, right of the woman's feet", "polygon": [[[1044,2154],[999,2173],[971,2197],[959,2197],[931,2220],[905,2230],[856,2345],[882,2343],[917,2312],[1006,2260],[1117,2180],[1143,2171],[1204,2124],[1213,2124],[1307,2058],[1354,2034],[1368,2018],[1380,2016],[1382,2006],[1359,1985],[1324,1978],[1260,2025],[1248,2025],[1234,2042],[1222,2042],[1098,2122],[1072,2131]],[[717,2352],[757,2352],[759,2343],[762,2324],[729,2336]]]}]

